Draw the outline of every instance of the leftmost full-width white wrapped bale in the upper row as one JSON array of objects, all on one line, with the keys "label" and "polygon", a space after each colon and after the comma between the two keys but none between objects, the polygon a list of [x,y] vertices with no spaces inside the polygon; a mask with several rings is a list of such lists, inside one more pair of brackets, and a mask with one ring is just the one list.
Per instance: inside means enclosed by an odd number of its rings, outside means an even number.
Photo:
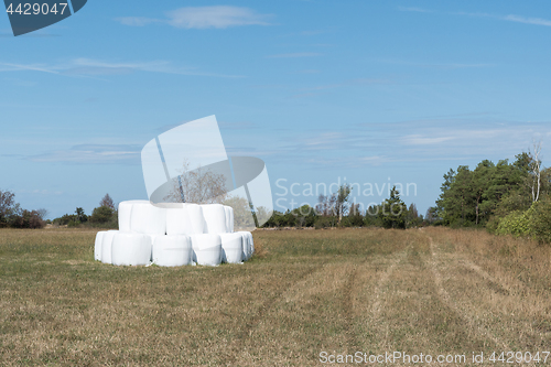
[{"label": "leftmost full-width white wrapped bale in the upper row", "polygon": [[143,235],[165,235],[165,208],[154,206],[150,202],[132,203],[130,231]]}]

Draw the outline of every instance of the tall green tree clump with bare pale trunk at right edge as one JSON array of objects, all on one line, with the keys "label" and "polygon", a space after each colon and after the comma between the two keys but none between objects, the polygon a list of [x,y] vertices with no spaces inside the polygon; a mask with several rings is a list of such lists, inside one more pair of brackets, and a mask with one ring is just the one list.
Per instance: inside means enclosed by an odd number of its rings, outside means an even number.
[{"label": "tall green tree clump with bare pale trunk at right edge", "polygon": [[434,225],[485,227],[551,242],[551,169],[542,166],[540,152],[534,144],[514,162],[484,160],[474,170],[450,170],[426,216]]}]

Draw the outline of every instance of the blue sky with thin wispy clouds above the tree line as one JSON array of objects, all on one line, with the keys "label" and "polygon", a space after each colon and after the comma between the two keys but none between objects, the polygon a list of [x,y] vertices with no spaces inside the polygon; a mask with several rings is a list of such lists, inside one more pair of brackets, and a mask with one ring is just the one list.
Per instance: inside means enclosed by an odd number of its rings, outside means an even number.
[{"label": "blue sky with thin wispy clouds above the tree line", "polygon": [[550,42],[544,1],[90,0],[18,37],[0,17],[0,190],[52,218],[147,198],[141,148],[216,115],[276,209],[341,180],[414,183],[424,213],[450,168],[534,139],[549,165]]}]

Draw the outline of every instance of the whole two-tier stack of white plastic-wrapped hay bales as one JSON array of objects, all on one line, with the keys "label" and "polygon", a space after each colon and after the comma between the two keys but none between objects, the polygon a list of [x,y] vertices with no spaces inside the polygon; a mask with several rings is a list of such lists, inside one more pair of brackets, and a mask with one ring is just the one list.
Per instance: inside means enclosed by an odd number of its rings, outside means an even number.
[{"label": "whole two-tier stack of white plastic-wrapped hay bales", "polygon": [[94,258],[117,266],[241,263],[255,247],[249,231],[234,233],[234,209],[222,204],[119,204],[119,230],[99,231]]}]

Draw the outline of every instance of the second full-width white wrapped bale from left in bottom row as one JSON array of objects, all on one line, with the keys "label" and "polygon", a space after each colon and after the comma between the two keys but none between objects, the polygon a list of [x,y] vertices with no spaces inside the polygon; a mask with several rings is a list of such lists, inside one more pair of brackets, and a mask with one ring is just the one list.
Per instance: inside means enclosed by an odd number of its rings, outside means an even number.
[{"label": "second full-width white wrapped bale from left in bottom row", "polygon": [[193,250],[185,235],[159,236],[153,244],[153,262],[160,267],[181,267],[192,263]]}]

